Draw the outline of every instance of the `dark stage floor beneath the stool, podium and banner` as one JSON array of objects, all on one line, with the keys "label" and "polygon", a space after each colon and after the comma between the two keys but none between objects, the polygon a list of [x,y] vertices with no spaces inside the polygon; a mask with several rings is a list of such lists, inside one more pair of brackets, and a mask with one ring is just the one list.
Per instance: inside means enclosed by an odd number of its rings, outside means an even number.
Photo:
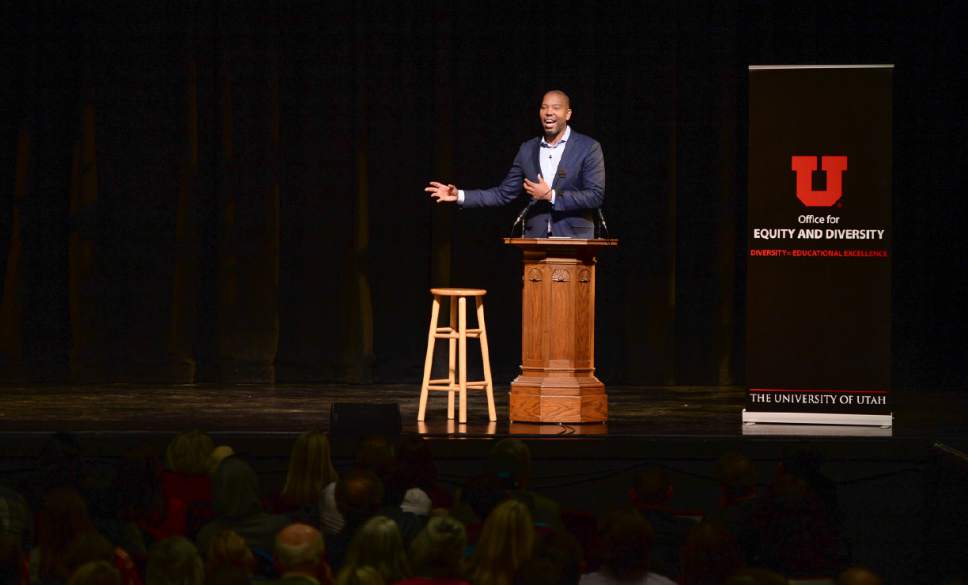
[{"label": "dark stage floor beneath the stool, podium and banner", "polygon": [[[165,435],[198,429],[215,435],[286,438],[307,429],[327,431],[335,402],[399,405],[404,432],[434,440],[610,438],[682,440],[857,439],[958,448],[968,442],[968,392],[898,390],[894,426],[743,425],[745,391],[739,387],[611,386],[607,424],[509,424],[508,387],[497,387],[498,422],[487,422],[484,395],[468,397],[468,424],[446,417],[446,395],[434,393],[425,424],[416,422],[419,388],[410,384],[252,384],[186,386],[0,386],[0,435],[29,437],[53,431],[111,435]],[[0,437],[2,438],[2,437]],[[10,441],[3,441],[10,444]],[[855,441],[856,442],[856,441]]]}]

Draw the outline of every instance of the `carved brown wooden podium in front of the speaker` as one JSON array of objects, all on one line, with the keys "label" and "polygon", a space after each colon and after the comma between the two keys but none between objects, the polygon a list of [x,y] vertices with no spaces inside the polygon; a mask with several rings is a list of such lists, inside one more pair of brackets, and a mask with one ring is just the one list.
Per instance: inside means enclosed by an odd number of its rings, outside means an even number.
[{"label": "carved brown wooden podium in front of the speaker", "polygon": [[521,374],[511,382],[510,420],[608,420],[595,377],[595,256],[618,240],[505,238],[521,249]]}]

